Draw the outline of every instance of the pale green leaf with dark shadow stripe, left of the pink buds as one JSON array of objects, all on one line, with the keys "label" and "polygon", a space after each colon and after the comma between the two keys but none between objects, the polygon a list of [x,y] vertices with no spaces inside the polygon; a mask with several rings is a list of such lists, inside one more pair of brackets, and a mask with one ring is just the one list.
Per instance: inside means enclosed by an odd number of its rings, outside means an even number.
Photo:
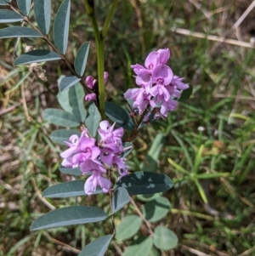
[{"label": "pale green leaf with dark shadow stripe, left of the pink buds", "polygon": [[72,113],[79,122],[84,122],[87,116],[87,111],[84,107],[84,96],[82,85],[77,83],[75,86],[59,92],[57,98],[65,111]]}]

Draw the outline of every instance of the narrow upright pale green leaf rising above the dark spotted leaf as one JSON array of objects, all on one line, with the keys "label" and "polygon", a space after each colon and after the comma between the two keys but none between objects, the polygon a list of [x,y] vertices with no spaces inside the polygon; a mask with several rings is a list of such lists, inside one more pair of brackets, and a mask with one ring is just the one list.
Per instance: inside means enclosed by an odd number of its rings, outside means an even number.
[{"label": "narrow upright pale green leaf rising above the dark spotted leaf", "polygon": [[157,168],[157,160],[160,156],[161,148],[164,145],[165,136],[163,134],[156,134],[156,138],[153,140],[150,146],[150,151],[142,163],[142,171],[155,172]]}]

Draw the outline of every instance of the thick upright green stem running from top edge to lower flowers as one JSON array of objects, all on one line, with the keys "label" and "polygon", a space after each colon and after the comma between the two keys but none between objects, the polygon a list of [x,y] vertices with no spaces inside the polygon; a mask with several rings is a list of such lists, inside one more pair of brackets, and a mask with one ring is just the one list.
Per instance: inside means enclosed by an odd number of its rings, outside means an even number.
[{"label": "thick upright green stem running from top edge to lower flowers", "polygon": [[104,41],[99,32],[99,26],[95,19],[94,14],[94,1],[84,0],[86,13],[88,19],[94,30],[94,37],[97,50],[98,60],[98,81],[99,81],[99,112],[102,119],[105,119],[105,83],[104,83],[104,71],[105,71],[105,56],[104,56]]}]

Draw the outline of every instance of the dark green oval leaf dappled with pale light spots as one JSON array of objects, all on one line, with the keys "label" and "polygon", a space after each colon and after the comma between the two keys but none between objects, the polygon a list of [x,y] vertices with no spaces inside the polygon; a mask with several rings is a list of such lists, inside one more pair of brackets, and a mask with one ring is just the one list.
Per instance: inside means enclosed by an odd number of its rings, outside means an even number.
[{"label": "dark green oval leaf dappled with pale light spots", "polygon": [[114,189],[124,187],[129,195],[144,195],[168,191],[172,186],[173,181],[164,174],[135,172],[119,179]]}]

